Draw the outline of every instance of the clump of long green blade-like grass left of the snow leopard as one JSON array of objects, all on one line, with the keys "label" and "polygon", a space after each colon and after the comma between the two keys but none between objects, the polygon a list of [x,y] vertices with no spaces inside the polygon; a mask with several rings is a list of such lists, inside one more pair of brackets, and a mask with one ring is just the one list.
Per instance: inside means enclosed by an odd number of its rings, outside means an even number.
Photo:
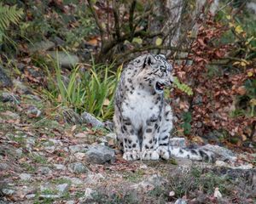
[{"label": "clump of long green blade-like grass left of the snow leopard", "polygon": [[58,59],[54,64],[55,78],[49,73],[49,90],[44,90],[49,99],[78,113],[87,111],[101,119],[113,116],[114,91],[122,66],[115,73],[111,71],[113,64],[96,65],[92,60],[89,69],[81,71],[78,65],[65,80]]}]

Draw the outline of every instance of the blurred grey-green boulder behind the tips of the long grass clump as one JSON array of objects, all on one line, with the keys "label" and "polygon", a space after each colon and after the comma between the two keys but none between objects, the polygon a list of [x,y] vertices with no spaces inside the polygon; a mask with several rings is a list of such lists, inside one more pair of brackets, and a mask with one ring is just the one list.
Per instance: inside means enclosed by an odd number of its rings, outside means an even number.
[{"label": "blurred grey-green boulder behind the tips of the long grass clump", "polygon": [[47,52],[53,59],[58,60],[61,67],[73,68],[79,63],[79,57],[75,54],[67,54],[66,52],[59,51],[57,54],[55,51]]}]

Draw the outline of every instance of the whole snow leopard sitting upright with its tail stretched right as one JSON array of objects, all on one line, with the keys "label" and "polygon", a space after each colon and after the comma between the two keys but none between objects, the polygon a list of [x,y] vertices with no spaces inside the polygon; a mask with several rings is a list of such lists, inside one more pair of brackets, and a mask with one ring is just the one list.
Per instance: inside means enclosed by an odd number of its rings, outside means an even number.
[{"label": "whole snow leopard sitting upright with its tail stretched right", "polygon": [[123,158],[134,160],[212,160],[207,150],[169,145],[172,108],[164,88],[172,85],[172,65],[163,54],[144,54],[131,60],[122,71],[114,101],[113,124]]}]

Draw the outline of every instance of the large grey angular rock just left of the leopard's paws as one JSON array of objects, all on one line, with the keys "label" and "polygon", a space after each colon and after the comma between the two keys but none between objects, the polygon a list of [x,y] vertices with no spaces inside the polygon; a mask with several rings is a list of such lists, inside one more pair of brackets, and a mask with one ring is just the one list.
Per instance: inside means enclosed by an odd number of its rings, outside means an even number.
[{"label": "large grey angular rock just left of the leopard's paws", "polygon": [[102,164],[115,161],[114,150],[104,145],[91,146],[85,154],[87,160],[93,163]]}]

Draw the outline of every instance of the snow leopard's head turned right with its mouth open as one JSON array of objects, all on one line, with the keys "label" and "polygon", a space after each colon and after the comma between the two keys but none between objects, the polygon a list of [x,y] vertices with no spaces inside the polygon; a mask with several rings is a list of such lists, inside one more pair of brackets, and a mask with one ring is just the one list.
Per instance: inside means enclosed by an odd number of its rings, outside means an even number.
[{"label": "snow leopard's head turned right with its mouth open", "polygon": [[139,79],[157,94],[163,94],[164,88],[172,84],[172,65],[163,54],[143,55]]}]

